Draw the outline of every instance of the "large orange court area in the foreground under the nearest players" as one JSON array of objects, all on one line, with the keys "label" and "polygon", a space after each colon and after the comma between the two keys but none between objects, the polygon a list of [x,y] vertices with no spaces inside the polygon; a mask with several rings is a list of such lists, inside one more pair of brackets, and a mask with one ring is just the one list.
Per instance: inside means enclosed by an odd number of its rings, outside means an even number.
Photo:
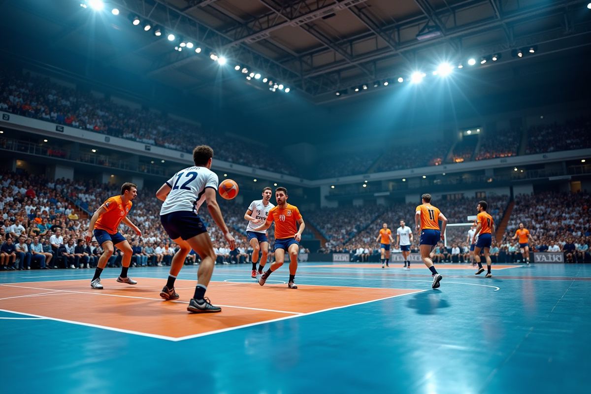
[{"label": "large orange court area in the foreground under the nearest players", "polygon": [[130,286],[103,279],[103,290],[91,289],[87,279],[2,284],[0,310],[178,341],[421,291],[210,282],[207,297],[222,312],[190,314],[186,305],[196,281],[177,280],[176,301],[160,298],[163,279],[137,281]]}]

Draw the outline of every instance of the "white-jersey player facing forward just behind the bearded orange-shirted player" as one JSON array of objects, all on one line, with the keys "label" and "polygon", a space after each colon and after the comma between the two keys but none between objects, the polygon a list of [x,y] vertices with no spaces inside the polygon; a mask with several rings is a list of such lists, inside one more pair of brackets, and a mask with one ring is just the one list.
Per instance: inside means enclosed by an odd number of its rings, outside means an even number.
[{"label": "white-jersey player facing forward just behind the bearded orange-shirted player", "polygon": [[[255,231],[256,227],[261,226],[267,222],[267,216],[273,204],[269,202],[273,190],[270,187],[265,187],[262,190],[262,200],[254,200],[248,206],[244,219],[248,220],[248,226],[246,226],[246,235],[248,236],[248,243],[252,246],[252,272],[251,278],[260,279],[262,275],[262,269],[267,263],[267,255],[269,253],[269,239],[267,238],[267,230]],[[256,262],[258,261],[259,252],[261,252],[261,263],[259,264],[258,271],[256,271]]]}]

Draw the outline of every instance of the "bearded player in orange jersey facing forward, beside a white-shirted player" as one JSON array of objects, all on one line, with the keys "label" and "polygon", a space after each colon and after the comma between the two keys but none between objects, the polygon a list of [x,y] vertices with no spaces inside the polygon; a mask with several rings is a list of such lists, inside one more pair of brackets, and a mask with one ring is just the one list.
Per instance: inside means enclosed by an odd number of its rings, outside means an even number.
[{"label": "bearded player in orange jersey facing forward, beside a white-shirted player", "polygon": [[271,272],[283,265],[285,252],[290,255],[290,280],[288,288],[297,289],[294,279],[297,271],[297,253],[300,250],[301,233],[304,232],[306,224],[302,219],[297,207],[287,203],[287,189],[278,187],[275,189],[277,206],[272,207],[265,220],[265,224],[256,227],[253,231],[264,231],[275,222],[275,262],[261,275],[259,285],[264,285]]}]

